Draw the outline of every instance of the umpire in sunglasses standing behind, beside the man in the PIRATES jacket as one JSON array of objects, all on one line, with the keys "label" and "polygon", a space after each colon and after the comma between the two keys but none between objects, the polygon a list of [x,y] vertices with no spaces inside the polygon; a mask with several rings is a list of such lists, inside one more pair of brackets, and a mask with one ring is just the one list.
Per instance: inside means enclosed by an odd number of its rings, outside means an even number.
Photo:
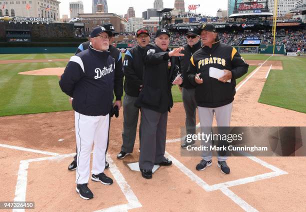
[{"label": "umpire in sunglasses standing behind, beside the man in the PIRATES jacket", "polygon": [[[201,48],[201,41],[199,40],[199,35],[197,34],[197,27],[190,27],[187,31],[186,38],[187,44],[185,44],[184,50],[181,53],[184,56],[179,57],[180,71],[183,76],[183,83],[179,85],[179,89],[182,93],[183,105],[186,113],[185,127],[186,134],[195,134],[195,112],[196,112],[196,101],[194,98],[195,86],[191,84],[188,80],[188,66],[190,63],[191,55]],[[181,144],[182,148],[186,148],[188,145],[193,145],[194,140],[191,142],[185,141]]]}]

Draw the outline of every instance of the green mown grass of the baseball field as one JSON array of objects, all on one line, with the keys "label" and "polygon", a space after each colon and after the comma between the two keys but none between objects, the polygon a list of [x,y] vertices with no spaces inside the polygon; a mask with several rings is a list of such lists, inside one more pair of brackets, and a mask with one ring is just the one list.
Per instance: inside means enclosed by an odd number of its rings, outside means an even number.
[{"label": "green mown grass of the baseball field", "polygon": [[[72,54],[0,54],[0,59],[69,58]],[[124,54],[122,55],[124,57]],[[265,60],[268,55],[243,55],[244,59]],[[284,70],[271,70],[259,102],[306,112],[304,85],[306,58],[273,56],[282,60]],[[45,67],[64,67],[66,62],[1,64],[0,116],[70,110],[68,97],[61,92],[56,76],[20,75],[21,71]],[[250,73],[256,66],[250,66]],[[247,73],[247,74],[248,74]],[[246,77],[245,74],[237,83]],[[181,101],[177,86],[172,87],[174,102]]]}]

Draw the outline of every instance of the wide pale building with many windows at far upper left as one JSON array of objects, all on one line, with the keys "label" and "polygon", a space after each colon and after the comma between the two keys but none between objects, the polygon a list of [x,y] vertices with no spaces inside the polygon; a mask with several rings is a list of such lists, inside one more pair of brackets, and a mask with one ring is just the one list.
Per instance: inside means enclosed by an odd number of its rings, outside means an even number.
[{"label": "wide pale building with many windows at far upper left", "polygon": [[[18,3],[15,3],[18,2]],[[59,22],[59,1],[0,1],[0,16],[50,17]]]}]

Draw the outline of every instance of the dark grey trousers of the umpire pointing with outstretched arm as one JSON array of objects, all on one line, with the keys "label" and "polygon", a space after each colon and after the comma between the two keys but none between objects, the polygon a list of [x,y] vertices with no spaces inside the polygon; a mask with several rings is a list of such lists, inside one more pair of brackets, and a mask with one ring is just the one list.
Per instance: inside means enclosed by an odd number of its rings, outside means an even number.
[{"label": "dark grey trousers of the umpire pointing with outstretched arm", "polygon": [[165,157],[165,139],[168,111],[156,112],[148,108],[141,110],[141,150],[139,168],[152,169],[154,163],[162,162]]}]

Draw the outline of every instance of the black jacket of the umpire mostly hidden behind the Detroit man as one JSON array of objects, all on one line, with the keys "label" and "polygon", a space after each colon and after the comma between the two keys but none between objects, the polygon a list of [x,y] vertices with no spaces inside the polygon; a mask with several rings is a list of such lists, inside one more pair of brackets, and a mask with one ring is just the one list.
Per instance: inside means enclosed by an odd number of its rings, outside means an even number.
[{"label": "black jacket of the umpire mostly hidden behind the Detroit man", "polygon": [[[86,50],[89,47],[89,44],[90,41],[86,41],[79,44],[76,49],[75,55],[83,50]],[[121,52],[112,45],[109,45],[108,51],[110,52],[110,56],[114,58],[115,61],[114,94],[116,96],[116,100],[121,100],[121,97],[123,95],[123,72]]]}]

